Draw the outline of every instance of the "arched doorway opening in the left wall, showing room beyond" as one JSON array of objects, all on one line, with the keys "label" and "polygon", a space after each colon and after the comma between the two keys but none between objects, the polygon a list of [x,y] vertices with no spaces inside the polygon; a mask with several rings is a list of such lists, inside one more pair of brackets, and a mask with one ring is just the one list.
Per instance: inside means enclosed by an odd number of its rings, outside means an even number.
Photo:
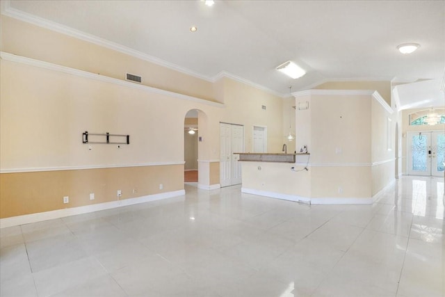
[{"label": "arched doorway opening in the left wall, showing room beyond", "polygon": [[184,119],[184,182],[198,181],[198,111],[192,109]]}]

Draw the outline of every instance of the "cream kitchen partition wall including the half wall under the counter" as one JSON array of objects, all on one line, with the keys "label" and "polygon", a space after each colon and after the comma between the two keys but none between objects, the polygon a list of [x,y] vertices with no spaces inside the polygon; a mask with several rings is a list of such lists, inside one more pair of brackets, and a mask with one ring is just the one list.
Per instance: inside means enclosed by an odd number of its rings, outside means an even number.
[{"label": "cream kitchen partition wall including the half wall under the counter", "polygon": [[296,110],[296,145],[307,145],[310,156],[297,156],[296,164],[243,162],[243,188],[314,203],[372,202],[394,181],[387,131],[394,139],[395,120],[388,130],[387,118],[394,116],[389,106],[372,92],[353,90],[296,93],[300,102],[309,109]]}]

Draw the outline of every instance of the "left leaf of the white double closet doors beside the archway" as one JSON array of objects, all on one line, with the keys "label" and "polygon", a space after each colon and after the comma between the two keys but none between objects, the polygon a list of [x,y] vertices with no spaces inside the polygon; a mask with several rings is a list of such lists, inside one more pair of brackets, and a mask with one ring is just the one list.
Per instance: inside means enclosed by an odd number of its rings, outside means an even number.
[{"label": "left leaf of the white double closet doors beside the archway", "polygon": [[220,123],[220,185],[232,185],[232,125]]}]

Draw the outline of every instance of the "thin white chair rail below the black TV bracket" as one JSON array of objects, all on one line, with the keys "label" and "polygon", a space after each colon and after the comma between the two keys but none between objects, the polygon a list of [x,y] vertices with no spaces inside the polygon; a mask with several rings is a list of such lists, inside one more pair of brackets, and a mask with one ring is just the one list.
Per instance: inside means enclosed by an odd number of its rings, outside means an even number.
[{"label": "thin white chair rail below the black TV bracket", "polygon": [[60,166],[60,167],[35,167],[35,168],[9,168],[1,169],[0,173],[15,173],[15,172],[40,172],[40,171],[62,171],[62,170],[88,170],[88,169],[102,169],[102,168],[127,168],[127,167],[145,167],[145,166],[168,166],[168,165],[184,165],[181,162],[157,162],[157,163],[140,163],[140,164],[126,164],[126,165],[92,165],[92,166]]}]

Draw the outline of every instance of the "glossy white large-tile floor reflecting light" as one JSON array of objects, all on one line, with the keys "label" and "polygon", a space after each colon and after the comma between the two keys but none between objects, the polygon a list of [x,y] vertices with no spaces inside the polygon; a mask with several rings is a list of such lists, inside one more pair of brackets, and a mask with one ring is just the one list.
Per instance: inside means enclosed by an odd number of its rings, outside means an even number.
[{"label": "glossy white large-tile floor reflecting light", "polygon": [[444,179],[372,205],[307,205],[239,186],[1,234],[1,296],[444,296]]}]

